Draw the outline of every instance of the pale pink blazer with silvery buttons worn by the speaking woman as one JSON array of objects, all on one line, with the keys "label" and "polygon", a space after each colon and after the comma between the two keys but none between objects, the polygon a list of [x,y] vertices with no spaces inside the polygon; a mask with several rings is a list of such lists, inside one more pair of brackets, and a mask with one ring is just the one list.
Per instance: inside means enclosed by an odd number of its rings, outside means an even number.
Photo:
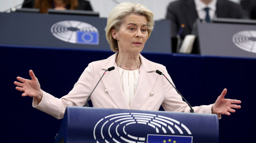
[{"label": "pale pink blazer with silvery buttons worn by the speaking woman", "polygon": [[[151,62],[142,55],[139,55],[141,66],[137,91],[130,105],[128,105],[115,62],[116,56],[117,53],[106,60],[90,63],[88,67],[85,68],[77,83],[75,83],[74,88],[68,95],[63,96],[61,99],[55,98],[51,94],[43,91],[42,101],[38,104],[36,100],[33,99],[33,107],[57,119],[63,118],[67,106],[83,106],[85,104],[87,97],[100,80],[104,71],[114,66],[115,69],[106,72],[92,93],[90,99],[93,107],[157,111],[162,105],[165,111],[189,112],[190,108],[172,85],[163,75],[156,73],[157,69],[160,70],[171,81],[166,67]],[[107,89],[108,93],[104,92],[105,89]],[[154,92],[153,96],[150,95],[151,92]],[[212,113],[212,104],[193,108],[195,113]]]}]

